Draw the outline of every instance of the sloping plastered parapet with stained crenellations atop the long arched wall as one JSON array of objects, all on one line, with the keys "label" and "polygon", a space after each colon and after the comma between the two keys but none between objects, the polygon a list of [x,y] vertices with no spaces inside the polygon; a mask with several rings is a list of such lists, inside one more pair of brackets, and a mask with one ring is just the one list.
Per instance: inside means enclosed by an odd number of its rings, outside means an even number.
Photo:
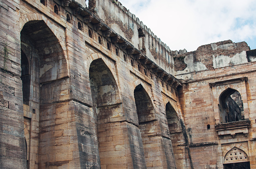
[{"label": "sloping plastered parapet with stained crenellations atop the long arched wall", "polygon": [[166,72],[174,73],[174,53],[118,0],[97,0],[97,14],[108,26]]}]

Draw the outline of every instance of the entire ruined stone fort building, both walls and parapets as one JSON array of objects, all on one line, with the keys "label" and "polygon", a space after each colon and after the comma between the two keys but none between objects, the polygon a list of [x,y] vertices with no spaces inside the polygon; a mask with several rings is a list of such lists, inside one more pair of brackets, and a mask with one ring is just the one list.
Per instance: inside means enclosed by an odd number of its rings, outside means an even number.
[{"label": "entire ruined stone fort building, both walls and parapets", "polygon": [[[3,168],[223,168],[234,147],[253,167],[245,42],[173,51],[120,2],[88,5],[1,1]],[[245,120],[226,124],[233,90]]]}]

